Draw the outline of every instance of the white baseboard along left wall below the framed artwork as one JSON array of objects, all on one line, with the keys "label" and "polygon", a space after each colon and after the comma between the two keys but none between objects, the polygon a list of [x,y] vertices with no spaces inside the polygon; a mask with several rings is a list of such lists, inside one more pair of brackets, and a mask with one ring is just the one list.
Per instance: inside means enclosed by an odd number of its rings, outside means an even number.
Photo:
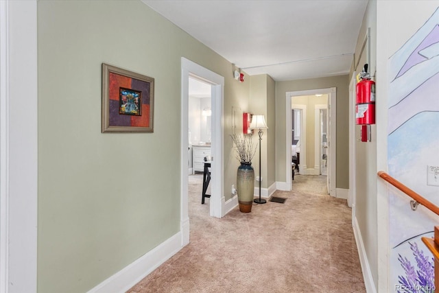
[{"label": "white baseboard along left wall below the framed artwork", "polygon": [[170,237],[143,257],[113,274],[87,293],[126,292],[182,248],[182,233]]}]

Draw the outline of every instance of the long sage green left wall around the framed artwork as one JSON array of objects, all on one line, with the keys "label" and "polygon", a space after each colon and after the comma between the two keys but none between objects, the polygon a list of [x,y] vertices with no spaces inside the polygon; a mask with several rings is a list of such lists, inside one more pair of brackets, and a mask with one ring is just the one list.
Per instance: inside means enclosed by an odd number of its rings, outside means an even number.
[{"label": "long sage green left wall around the framed artwork", "polygon": [[[141,1],[38,1],[38,292],[86,292],[180,230],[182,56],[225,78],[227,200],[249,82]],[[102,62],[155,78],[154,133],[100,132]]]}]

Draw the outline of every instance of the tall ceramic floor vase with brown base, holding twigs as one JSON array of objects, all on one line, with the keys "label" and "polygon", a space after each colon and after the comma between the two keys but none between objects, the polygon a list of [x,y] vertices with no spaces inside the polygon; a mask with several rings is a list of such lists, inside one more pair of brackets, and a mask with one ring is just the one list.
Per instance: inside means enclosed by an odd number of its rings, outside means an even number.
[{"label": "tall ceramic floor vase with brown base, holding twigs", "polygon": [[252,163],[242,163],[238,167],[237,191],[239,211],[250,213],[254,198],[254,169]]}]

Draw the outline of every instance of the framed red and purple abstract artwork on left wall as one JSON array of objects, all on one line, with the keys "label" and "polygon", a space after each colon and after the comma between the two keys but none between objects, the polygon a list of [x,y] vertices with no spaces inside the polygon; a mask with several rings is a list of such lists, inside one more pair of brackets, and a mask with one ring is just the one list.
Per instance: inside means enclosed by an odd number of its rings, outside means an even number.
[{"label": "framed red and purple abstract artwork on left wall", "polygon": [[101,131],[154,132],[154,78],[102,63]]}]

